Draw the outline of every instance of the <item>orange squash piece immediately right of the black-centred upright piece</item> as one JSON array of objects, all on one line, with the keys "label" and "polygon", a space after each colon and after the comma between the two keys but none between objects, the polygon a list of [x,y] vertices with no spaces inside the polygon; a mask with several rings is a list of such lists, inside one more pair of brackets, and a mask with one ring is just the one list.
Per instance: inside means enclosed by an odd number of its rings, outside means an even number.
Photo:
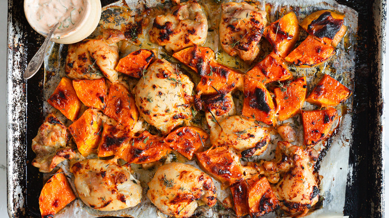
[{"label": "orange squash piece immediately right of the black-centred upright piece", "polygon": [[293,82],[279,83],[274,89],[277,103],[278,120],[282,121],[296,115],[304,104],[307,95],[307,81],[305,77]]}]

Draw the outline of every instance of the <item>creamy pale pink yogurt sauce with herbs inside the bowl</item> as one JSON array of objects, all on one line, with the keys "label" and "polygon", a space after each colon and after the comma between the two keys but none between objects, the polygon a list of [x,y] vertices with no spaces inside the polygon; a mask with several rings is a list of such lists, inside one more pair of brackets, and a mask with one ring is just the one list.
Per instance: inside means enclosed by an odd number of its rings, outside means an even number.
[{"label": "creamy pale pink yogurt sauce with herbs inside the bowl", "polygon": [[50,28],[59,22],[54,37],[60,38],[74,31],[89,14],[87,0],[25,0],[25,14],[34,29],[47,35]]}]

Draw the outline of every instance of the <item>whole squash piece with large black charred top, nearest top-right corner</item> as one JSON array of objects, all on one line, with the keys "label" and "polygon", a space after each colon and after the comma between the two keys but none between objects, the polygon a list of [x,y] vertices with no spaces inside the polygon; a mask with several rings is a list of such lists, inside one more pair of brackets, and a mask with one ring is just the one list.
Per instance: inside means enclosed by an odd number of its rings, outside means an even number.
[{"label": "whole squash piece with large black charred top, nearest top-right corner", "polygon": [[304,18],[301,27],[325,44],[336,47],[346,34],[345,15],[331,10],[318,10]]}]

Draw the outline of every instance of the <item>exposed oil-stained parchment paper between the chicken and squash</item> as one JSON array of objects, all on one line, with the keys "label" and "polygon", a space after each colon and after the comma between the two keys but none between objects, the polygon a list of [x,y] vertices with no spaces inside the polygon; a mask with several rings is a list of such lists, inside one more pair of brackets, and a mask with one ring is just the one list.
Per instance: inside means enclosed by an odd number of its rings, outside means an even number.
[{"label": "exposed oil-stained parchment paper between the chicken and squash", "polygon": [[[134,1],[135,2],[135,1]],[[136,36],[133,41],[129,41],[126,43],[122,43],[119,45],[120,51],[123,53],[122,57],[129,54],[130,52],[136,51],[139,48],[144,49],[154,49],[158,54],[159,58],[169,59],[171,62],[176,63],[171,54],[167,54],[162,47],[157,47],[156,44],[149,43],[149,30],[151,28],[152,22],[148,22],[148,19],[153,20],[153,13],[149,15],[137,15],[141,14],[140,12],[145,7],[157,7],[156,11],[164,11],[164,8],[169,4],[160,3],[154,1],[146,1],[147,3],[140,3],[136,1],[127,0],[119,1],[108,5],[103,8],[102,20],[100,21],[100,25],[96,30],[95,34],[99,33],[99,28],[116,28],[121,29],[123,31],[131,34],[131,31],[136,27],[139,23],[148,23],[146,25],[146,29],[143,30],[143,34]],[[220,47],[219,39],[217,36],[217,27],[219,23],[219,16],[215,14],[219,14],[219,3],[214,0],[200,0],[198,1],[207,14],[208,18],[208,36],[207,40],[203,47],[209,47],[213,51],[215,51],[216,59],[219,63],[222,63],[228,67],[234,68],[243,73],[247,72],[252,66],[243,63],[239,58],[228,56]],[[331,58],[330,61],[326,62],[324,65],[313,68],[298,68],[296,66],[290,65],[289,70],[292,72],[293,76],[301,77],[307,76],[307,84],[308,91],[312,90],[314,85],[322,78],[324,74],[328,74],[340,81],[346,87],[349,87],[353,90],[353,77],[354,77],[354,69],[355,69],[355,43],[356,43],[356,32],[357,32],[357,20],[358,13],[351,8],[348,8],[343,5],[337,4],[333,0],[267,0],[267,1],[247,1],[253,5],[256,5],[259,9],[265,10],[268,13],[268,20],[270,22],[275,21],[276,19],[283,16],[284,12],[294,11],[301,21],[306,14],[309,14],[313,11],[319,9],[332,9],[340,11],[341,13],[345,13],[345,21],[344,24],[348,27],[348,32],[344,39],[338,45],[336,49],[336,55]],[[126,4],[127,3],[127,4]],[[129,5],[129,7],[127,7]],[[146,5],[146,6],[145,6]],[[132,8],[132,9],[130,9]],[[284,12],[282,12],[284,11]],[[135,16],[134,16],[135,15]],[[136,28],[135,28],[136,29]],[[300,32],[300,40],[304,39],[304,35],[306,34],[303,30]],[[66,57],[66,49],[67,47],[64,45],[55,44],[51,48],[51,55],[47,56],[45,59],[45,81],[44,81],[44,96],[45,100],[47,100],[52,94],[53,90],[59,83],[59,80],[62,76],[64,76],[64,58]],[[259,59],[262,59],[267,53],[270,51],[269,43],[262,40],[260,43],[260,53]],[[254,61],[255,62],[255,61]],[[178,63],[178,62],[177,62]],[[184,68],[185,72],[186,69]],[[198,77],[194,76],[193,73],[188,72],[193,77],[194,83],[198,83]],[[196,79],[197,78],[197,79]],[[136,80],[128,79],[126,77],[119,78],[121,82],[126,84],[132,90],[134,87]],[[239,114],[241,111],[241,101],[242,101],[242,93],[237,91],[233,94],[235,105],[237,108],[237,113]],[[313,106],[309,104],[304,105],[303,109],[315,109]],[[45,102],[44,112],[47,115],[49,112],[55,111]],[[321,146],[322,153],[319,155],[319,158],[322,158],[320,163],[319,175],[321,178],[320,182],[320,195],[322,196],[321,202],[318,203],[318,209],[314,211],[308,217],[320,217],[320,216],[339,216],[343,217],[343,207],[345,202],[345,191],[346,191],[346,182],[347,175],[349,173],[348,162],[349,162],[349,145],[352,143],[351,139],[351,117],[352,114],[352,98],[347,100],[345,103],[341,104],[338,107],[339,114],[343,114],[341,120],[338,120],[334,126],[333,137],[328,141],[324,142],[324,145]],[[59,115],[57,113],[58,117]],[[62,121],[65,119],[63,117]],[[290,118],[286,120],[286,122],[290,122],[296,128],[299,129],[297,140],[293,142],[293,144],[302,144],[302,126],[301,126],[301,115],[297,115],[294,118]],[[66,123],[65,123],[66,124]],[[204,128],[207,128],[204,125]],[[274,156],[274,149],[276,147],[276,141],[278,141],[278,136],[273,136],[269,147],[266,152],[261,156],[257,156],[255,158],[251,158],[247,161],[255,161],[257,159],[266,159],[270,160]],[[317,145],[320,146],[320,145]],[[329,149],[328,149],[329,148]],[[166,161],[180,161],[176,160],[176,157],[170,157]],[[187,162],[197,168],[198,165],[195,161]],[[68,170],[65,163],[61,166],[65,171]],[[140,168],[140,169],[139,169]],[[93,218],[96,216],[131,216],[137,218],[154,218],[154,217],[166,217],[148,200],[145,193],[147,190],[147,183],[153,177],[155,170],[143,170],[139,165],[133,165],[134,176],[141,181],[143,190],[143,199],[141,204],[137,205],[134,208],[124,209],[121,211],[115,212],[101,212],[93,210],[89,207],[83,205],[83,203],[77,199],[74,201],[70,208],[67,208],[62,213],[56,215],[55,217],[65,218],[65,217],[83,217],[83,218]],[[214,180],[214,183],[217,188],[217,197],[220,202],[224,200],[225,197],[230,195],[229,189],[221,191],[220,183]],[[220,191],[219,191],[220,190]],[[218,214],[229,214],[223,207],[218,203],[212,209],[207,208],[206,206],[201,206],[197,208],[196,215],[203,216],[206,218],[216,217]],[[233,216],[233,214],[230,214]],[[266,215],[265,217],[277,217],[276,214],[271,213]]]}]

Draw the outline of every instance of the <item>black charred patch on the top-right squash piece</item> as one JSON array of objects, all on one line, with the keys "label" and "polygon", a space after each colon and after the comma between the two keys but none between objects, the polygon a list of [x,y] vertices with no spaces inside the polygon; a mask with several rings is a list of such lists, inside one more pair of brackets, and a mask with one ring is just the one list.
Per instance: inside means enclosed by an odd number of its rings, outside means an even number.
[{"label": "black charred patch on the top-right squash piece", "polygon": [[308,33],[318,38],[334,39],[343,25],[343,19],[334,19],[330,11],[322,13],[308,25]]}]

